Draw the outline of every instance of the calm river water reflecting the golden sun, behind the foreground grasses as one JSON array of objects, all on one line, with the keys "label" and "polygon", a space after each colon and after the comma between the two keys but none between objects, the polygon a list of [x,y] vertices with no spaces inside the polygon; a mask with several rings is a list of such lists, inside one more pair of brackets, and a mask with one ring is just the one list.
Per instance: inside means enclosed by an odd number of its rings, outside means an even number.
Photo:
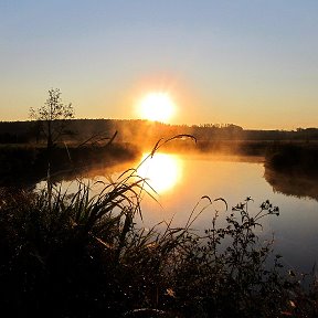
[{"label": "calm river water reflecting the golden sun, behind the foreground grasses", "polygon": [[[131,162],[130,167],[138,167],[140,161]],[[94,181],[108,182],[109,178],[116,179],[123,169],[91,171],[91,176],[94,176]],[[195,215],[209,203],[209,200],[201,199],[204,195],[211,200],[223,198],[229,210],[225,211],[223,201],[213,202],[192,224],[198,230],[211,226],[215,210],[219,211],[218,222],[222,226],[232,206],[244,202],[247,197],[253,199],[248,201],[252,214],[259,211],[262,202],[269,200],[279,208],[280,213],[279,216],[264,218],[258,234],[264,240],[274,236],[275,253],[283,255],[283,264],[287,268],[303,273],[312,269],[318,256],[318,201],[314,199],[314,194],[317,194],[314,186],[303,186],[304,180],[300,182],[295,177],[283,180],[273,173],[269,176],[268,171],[265,173],[262,158],[191,153],[155,153],[153,158],[144,161],[137,172],[147,178],[156,190],[155,193],[146,187],[156,200],[144,192],[142,221],[137,220],[139,226],[151,227],[161,221],[171,222],[172,226],[186,225],[192,211]],[[72,189],[74,184],[70,181],[64,183],[64,187],[70,186]],[[98,187],[95,191],[100,190],[100,184]]]}]

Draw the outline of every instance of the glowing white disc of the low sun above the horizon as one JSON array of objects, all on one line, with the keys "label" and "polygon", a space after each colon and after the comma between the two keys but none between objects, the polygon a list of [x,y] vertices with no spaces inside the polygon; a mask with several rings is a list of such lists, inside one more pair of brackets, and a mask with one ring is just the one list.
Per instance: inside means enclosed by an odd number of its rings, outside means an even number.
[{"label": "glowing white disc of the low sun above the horizon", "polygon": [[149,93],[141,99],[139,109],[145,119],[167,123],[172,117],[176,105],[167,93]]}]

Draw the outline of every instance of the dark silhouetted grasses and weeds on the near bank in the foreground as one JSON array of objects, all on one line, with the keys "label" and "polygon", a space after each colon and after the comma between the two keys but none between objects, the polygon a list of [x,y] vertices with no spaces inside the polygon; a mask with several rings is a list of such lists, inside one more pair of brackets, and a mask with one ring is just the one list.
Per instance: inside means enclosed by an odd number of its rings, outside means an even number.
[{"label": "dark silhouetted grasses and weeds on the near bank in the foreground", "polygon": [[[152,153],[153,155],[153,153]],[[156,156],[156,155],[155,155]],[[317,317],[316,277],[288,272],[258,236],[279,209],[204,195],[182,229],[144,229],[130,169],[93,195],[0,191],[0,306],[8,317]],[[214,201],[224,210],[215,211]],[[257,206],[257,204],[256,204]],[[252,212],[251,212],[252,210]],[[188,211],[184,211],[187,213]],[[201,213],[211,213],[203,232]],[[219,226],[219,219],[226,223]],[[264,241],[265,240],[265,241]],[[307,279],[305,288],[301,283]]]}]

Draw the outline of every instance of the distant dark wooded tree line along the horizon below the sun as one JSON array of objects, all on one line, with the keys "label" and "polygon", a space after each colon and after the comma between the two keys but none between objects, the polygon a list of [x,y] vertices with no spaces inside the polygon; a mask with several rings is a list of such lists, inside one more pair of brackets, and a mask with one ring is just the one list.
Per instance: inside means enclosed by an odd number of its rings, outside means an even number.
[{"label": "distant dark wooded tree line along the horizon below the sun", "polygon": [[[56,119],[57,120],[57,119]],[[59,120],[57,120],[59,121]],[[0,144],[28,144],[46,141],[40,128],[42,121],[0,121]],[[318,140],[318,128],[296,130],[251,130],[233,124],[167,125],[141,119],[70,119],[60,131],[63,139],[81,141],[89,136],[113,136],[117,141],[139,142],[140,139],[165,138],[178,134],[191,134],[198,140]]]}]

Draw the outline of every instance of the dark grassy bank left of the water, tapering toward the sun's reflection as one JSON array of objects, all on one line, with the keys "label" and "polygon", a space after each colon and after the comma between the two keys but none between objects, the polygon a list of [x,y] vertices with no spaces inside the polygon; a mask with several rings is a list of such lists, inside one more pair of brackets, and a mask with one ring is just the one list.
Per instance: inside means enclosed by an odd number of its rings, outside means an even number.
[{"label": "dark grassy bank left of the water, tapering toward the sun's reflection", "polygon": [[[107,146],[59,145],[51,150],[50,167],[54,181],[86,172],[92,168],[112,167],[129,162],[140,156],[138,148],[128,142]],[[34,184],[46,178],[47,149],[43,146],[6,145],[0,147],[0,187]]]}]

